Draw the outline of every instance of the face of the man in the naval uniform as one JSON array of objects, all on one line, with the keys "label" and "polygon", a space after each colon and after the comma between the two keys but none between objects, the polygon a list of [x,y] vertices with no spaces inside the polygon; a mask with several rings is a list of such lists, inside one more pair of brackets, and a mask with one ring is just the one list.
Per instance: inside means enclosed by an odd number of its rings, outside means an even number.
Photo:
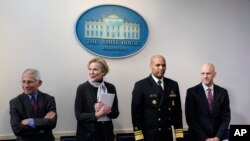
[{"label": "face of the man in the naval uniform", "polygon": [[155,56],[151,59],[150,64],[151,72],[152,74],[158,78],[161,79],[164,76],[164,73],[166,71],[166,61],[161,56]]}]

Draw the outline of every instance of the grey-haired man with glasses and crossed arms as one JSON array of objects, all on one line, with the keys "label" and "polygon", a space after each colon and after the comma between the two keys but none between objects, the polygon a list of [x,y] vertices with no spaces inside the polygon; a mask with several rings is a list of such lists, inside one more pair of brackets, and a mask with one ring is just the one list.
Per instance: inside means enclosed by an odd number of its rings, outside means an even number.
[{"label": "grey-haired man with glasses and crossed arms", "polygon": [[42,81],[35,69],[22,74],[23,93],[10,100],[10,123],[17,141],[54,141],[55,98],[38,90]]}]

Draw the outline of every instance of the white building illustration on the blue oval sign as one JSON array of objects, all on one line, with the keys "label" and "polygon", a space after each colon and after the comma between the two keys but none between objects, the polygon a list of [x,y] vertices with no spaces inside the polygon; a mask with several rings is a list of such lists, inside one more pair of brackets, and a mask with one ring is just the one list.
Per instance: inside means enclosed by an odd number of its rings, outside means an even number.
[{"label": "white building illustration on the blue oval sign", "polygon": [[140,40],[140,24],[110,14],[99,20],[84,23],[85,38]]}]

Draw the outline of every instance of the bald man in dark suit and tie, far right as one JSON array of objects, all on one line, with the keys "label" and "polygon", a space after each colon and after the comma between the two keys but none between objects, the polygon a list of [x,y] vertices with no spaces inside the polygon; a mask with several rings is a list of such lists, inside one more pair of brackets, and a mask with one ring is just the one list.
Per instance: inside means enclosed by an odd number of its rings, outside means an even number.
[{"label": "bald man in dark suit and tie, far right", "polygon": [[187,90],[185,112],[189,141],[220,141],[230,122],[227,90],[215,85],[215,67],[201,66],[201,83]]}]

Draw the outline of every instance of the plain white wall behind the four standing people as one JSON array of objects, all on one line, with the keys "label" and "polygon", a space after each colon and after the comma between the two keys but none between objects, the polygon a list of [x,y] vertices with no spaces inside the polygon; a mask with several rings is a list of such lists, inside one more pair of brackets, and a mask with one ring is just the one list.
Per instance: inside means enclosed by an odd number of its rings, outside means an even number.
[{"label": "plain white wall behind the four standing people", "polygon": [[[40,70],[40,90],[56,98],[55,132],[76,129],[74,98],[87,80],[93,54],[82,48],[75,23],[87,9],[118,4],[141,14],[149,40],[138,54],[107,59],[106,80],[118,91],[120,116],[115,129],[131,129],[130,101],[134,83],[147,77],[149,59],[167,58],[166,76],[179,82],[182,105],[186,89],[198,84],[203,62],[217,67],[215,82],[229,91],[232,124],[250,124],[249,0],[1,0],[0,1],[0,135],[12,134],[9,100],[22,92],[20,75],[27,67]],[[183,115],[185,127],[185,116]]]}]

